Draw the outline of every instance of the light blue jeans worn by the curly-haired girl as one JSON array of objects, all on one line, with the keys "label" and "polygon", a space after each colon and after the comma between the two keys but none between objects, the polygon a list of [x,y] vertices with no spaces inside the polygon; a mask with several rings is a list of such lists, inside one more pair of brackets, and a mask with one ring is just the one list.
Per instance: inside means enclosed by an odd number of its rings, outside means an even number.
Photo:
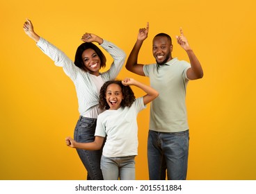
[{"label": "light blue jeans worn by the curly-haired girl", "polygon": [[135,180],[135,156],[104,157],[101,168],[104,180]]}]

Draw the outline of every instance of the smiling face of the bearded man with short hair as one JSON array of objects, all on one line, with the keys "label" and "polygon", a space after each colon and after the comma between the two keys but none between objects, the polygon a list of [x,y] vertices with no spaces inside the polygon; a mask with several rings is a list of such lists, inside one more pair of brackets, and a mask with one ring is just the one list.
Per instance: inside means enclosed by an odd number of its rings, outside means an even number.
[{"label": "smiling face of the bearded man with short hair", "polygon": [[158,64],[165,64],[172,60],[173,45],[167,37],[156,36],[153,39],[152,52]]}]

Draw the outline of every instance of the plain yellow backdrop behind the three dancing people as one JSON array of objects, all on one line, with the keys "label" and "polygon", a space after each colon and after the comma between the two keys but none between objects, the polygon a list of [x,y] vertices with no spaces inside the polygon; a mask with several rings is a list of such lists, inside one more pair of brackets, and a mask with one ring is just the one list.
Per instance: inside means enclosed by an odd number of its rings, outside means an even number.
[{"label": "plain yellow backdrop behind the three dancing people", "polygon": [[[22,29],[37,32],[71,59],[83,33],[95,33],[127,55],[138,28],[150,33],[138,61],[154,62],[152,38],[173,37],[173,57],[188,60],[175,42],[184,35],[205,76],[189,82],[187,179],[256,179],[255,1],[1,1],[0,179],[86,179],[77,152],[65,145],[79,117],[72,81]],[[106,53],[108,66],[112,59]],[[104,69],[104,70],[106,70]],[[122,69],[118,78],[148,78]],[[134,89],[136,96],[143,92]],[[148,179],[149,107],[138,115],[136,179]]]}]

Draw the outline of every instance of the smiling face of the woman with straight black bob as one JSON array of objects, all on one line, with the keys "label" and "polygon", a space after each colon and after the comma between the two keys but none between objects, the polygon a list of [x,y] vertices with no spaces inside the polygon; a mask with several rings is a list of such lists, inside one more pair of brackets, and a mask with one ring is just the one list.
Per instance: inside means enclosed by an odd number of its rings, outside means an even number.
[{"label": "smiling face of the woman with straight black bob", "polygon": [[88,48],[83,51],[82,54],[83,64],[86,69],[93,75],[99,76],[99,69],[100,69],[100,58],[97,53],[92,49]]}]

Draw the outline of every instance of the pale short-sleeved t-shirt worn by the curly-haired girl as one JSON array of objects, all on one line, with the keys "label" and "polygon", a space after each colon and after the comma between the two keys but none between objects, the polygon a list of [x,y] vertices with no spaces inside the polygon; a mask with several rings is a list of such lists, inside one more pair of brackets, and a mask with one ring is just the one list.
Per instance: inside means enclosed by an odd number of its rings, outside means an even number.
[{"label": "pale short-sleeved t-shirt worn by the curly-haired girl", "polygon": [[102,155],[127,157],[138,155],[137,115],[145,109],[143,97],[137,98],[131,107],[106,110],[99,114],[95,136],[106,136]]}]

